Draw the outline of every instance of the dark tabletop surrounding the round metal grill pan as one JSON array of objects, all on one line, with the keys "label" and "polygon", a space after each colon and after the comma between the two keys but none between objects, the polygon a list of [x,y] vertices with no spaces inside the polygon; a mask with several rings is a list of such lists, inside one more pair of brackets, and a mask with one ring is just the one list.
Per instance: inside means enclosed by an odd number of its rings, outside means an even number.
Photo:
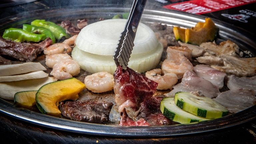
[{"label": "dark tabletop surrounding the round metal grill pan", "polygon": [[[147,3],[154,5],[156,8],[161,8],[161,5],[153,0],[148,0]],[[3,6],[3,2],[0,2]],[[129,7],[132,4],[131,0],[39,0],[27,4],[19,4],[0,9],[0,19],[9,17],[20,12],[27,12],[38,9],[49,9],[52,7],[61,7],[67,5],[80,4],[116,4],[122,7]],[[252,6],[255,7],[255,3]],[[225,12],[230,12],[226,10]],[[205,14],[205,16],[218,18],[220,12],[213,12]],[[225,22],[231,23],[230,20],[221,19]],[[248,31],[256,32],[255,28],[250,30],[255,21],[250,22],[249,26],[241,25],[240,23],[232,21],[232,24],[242,27]],[[250,27],[251,26],[251,27]],[[256,143],[256,120],[211,132],[190,134],[177,137],[163,137],[163,138],[122,138],[122,137],[103,137],[95,135],[77,134],[65,132],[46,127],[41,127],[31,123],[27,123],[5,114],[0,113],[0,143]]]}]

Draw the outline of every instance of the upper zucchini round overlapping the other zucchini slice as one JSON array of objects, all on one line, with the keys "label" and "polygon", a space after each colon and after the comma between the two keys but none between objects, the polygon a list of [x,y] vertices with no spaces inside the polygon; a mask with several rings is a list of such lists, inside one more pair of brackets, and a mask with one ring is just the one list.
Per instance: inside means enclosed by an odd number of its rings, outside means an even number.
[{"label": "upper zucchini round overlapping the other zucchini slice", "polygon": [[205,96],[177,92],[174,101],[179,108],[200,117],[220,118],[228,115],[228,110],[225,107]]}]

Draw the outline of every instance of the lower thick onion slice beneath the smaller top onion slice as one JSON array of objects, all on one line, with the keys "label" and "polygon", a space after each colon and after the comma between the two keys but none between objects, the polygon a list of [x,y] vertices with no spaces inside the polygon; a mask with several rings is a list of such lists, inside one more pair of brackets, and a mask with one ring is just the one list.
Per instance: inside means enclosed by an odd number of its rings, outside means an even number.
[{"label": "lower thick onion slice beneath the smaller top onion slice", "polygon": [[[158,46],[146,53],[132,54],[128,67],[138,72],[145,72],[155,68],[162,56],[163,46],[158,42]],[[80,67],[90,73],[106,71],[113,74],[116,64],[112,56],[104,56],[88,53],[80,50],[77,46],[72,51],[72,58],[78,62]]]}]

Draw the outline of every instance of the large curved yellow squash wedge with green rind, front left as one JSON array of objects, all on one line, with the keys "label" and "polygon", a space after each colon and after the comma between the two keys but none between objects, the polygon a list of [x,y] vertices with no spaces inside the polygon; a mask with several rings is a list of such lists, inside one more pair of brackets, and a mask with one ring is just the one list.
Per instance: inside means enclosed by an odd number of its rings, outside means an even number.
[{"label": "large curved yellow squash wedge with green rind, front left", "polygon": [[60,117],[59,102],[78,99],[84,88],[85,84],[76,78],[46,84],[36,93],[36,106],[43,114]]}]

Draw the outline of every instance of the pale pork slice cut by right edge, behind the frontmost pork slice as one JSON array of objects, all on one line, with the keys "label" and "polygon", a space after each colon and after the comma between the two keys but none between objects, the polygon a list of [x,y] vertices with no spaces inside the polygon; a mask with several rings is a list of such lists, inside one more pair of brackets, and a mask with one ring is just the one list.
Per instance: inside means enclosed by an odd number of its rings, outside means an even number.
[{"label": "pale pork slice cut by right edge, behind the frontmost pork slice", "polygon": [[241,78],[234,75],[228,76],[227,86],[233,92],[256,95],[256,76]]}]

